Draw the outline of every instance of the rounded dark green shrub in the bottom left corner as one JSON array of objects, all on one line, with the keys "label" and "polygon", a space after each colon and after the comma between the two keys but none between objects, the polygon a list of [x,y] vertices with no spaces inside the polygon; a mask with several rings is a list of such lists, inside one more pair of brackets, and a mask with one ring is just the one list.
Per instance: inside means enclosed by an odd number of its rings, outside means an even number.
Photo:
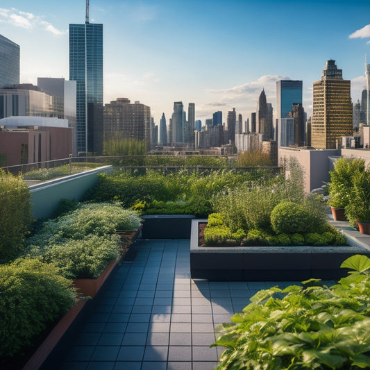
[{"label": "rounded dark green shrub in the bottom left corner", "polygon": [[0,265],[0,357],[22,355],[75,302],[72,280],[52,264],[26,259]]}]

